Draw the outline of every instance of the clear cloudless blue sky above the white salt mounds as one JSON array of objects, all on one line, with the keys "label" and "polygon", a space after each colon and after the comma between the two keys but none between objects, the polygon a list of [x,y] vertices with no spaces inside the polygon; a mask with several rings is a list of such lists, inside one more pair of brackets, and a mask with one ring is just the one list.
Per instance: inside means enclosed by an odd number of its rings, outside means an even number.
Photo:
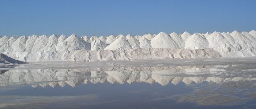
[{"label": "clear cloudless blue sky above the white salt mounds", "polygon": [[256,30],[256,0],[0,0],[0,36]]}]

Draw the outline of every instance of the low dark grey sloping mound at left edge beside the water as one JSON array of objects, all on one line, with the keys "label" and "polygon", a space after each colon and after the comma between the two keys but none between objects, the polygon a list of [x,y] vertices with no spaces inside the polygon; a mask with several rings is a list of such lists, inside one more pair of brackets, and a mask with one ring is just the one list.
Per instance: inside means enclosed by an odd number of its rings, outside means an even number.
[{"label": "low dark grey sloping mound at left edge beside the water", "polygon": [[25,64],[26,62],[15,60],[11,57],[4,55],[3,53],[0,53],[0,63],[3,63],[3,64]]}]

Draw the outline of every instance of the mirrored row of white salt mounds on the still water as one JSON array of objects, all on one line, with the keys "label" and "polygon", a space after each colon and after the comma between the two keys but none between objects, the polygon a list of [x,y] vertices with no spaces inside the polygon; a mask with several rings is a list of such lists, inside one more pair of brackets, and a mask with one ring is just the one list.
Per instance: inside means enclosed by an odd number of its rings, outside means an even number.
[{"label": "mirrored row of white salt mounds on the still water", "polygon": [[[255,68],[256,69],[256,68]],[[111,84],[132,84],[133,82],[158,83],[165,86],[184,82],[189,85],[202,82],[217,84],[230,81],[255,81],[255,69],[246,65],[222,66],[167,66],[167,67],[117,67],[90,69],[16,69],[3,70],[0,75],[0,86],[31,84],[36,88],[79,84],[109,82]]]}]

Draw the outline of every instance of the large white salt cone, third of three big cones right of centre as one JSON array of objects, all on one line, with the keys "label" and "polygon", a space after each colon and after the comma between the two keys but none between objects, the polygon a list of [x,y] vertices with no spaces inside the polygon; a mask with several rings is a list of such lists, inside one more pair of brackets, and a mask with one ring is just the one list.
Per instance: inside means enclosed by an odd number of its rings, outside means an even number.
[{"label": "large white salt cone, third of three big cones right of centre", "polygon": [[209,48],[233,48],[233,46],[226,40],[219,32],[213,32],[210,36],[206,37]]}]

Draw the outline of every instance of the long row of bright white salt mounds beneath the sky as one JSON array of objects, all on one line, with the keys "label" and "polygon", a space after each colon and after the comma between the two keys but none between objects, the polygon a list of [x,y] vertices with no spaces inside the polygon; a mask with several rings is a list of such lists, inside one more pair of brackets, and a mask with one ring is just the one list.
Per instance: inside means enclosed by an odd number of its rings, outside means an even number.
[{"label": "long row of bright white salt mounds beneath the sky", "polygon": [[[121,39],[120,39],[121,38]],[[150,39],[150,40],[148,40]],[[97,40],[97,41],[94,41]],[[93,43],[92,43],[93,42]],[[144,48],[163,49],[204,49],[211,48],[222,57],[256,56],[256,31],[250,32],[213,32],[194,33],[184,32],[180,35],[173,32],[168,35],[161,32],[158,35],[143,36],[110,35],[108,37],[93,36],[78,37],[72,34],[57,36],[13,36],[0,38],[0,52],[17,60],[52,60],[54,56],[66,56],[71,51],[127,50]],[[90,52],[93,53],[93,52]],[[48,54],[48,55],[46,55]],[[54,56],[51,56],[54,55]],[[139,54],[138,54],[139,55]],[[44,57],[44,58],[42,58]],[[82,57],[82,56],[81,56]],[[60,58],[60,60],[62,60]]]}]

